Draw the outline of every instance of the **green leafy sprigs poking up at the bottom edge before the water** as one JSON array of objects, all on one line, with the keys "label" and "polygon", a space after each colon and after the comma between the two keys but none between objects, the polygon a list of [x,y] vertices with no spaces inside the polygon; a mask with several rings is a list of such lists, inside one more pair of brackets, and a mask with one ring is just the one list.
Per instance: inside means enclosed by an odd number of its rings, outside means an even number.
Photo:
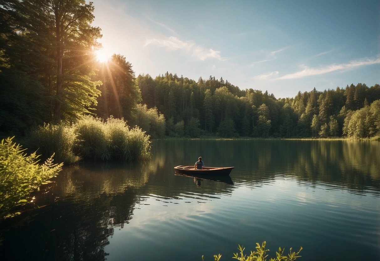
[{"label": "green leafy sprigs poking up at the bottom edge before the water", "polygon": [[[237,259],[239,261],[267,261],[268,255],[267,252],[269,249],[265,249],[266,242],[264,241],[261,246],[259,243],[256,243],[256,251],[251,251],[250,255],[244,255],[244,247],[238,247],[240,253],[234,253],[232,258]],[[302,247],[299,248],[298,252],[292,251],[292,248],[289,250],[289,254],[284,256],[284,249],[279,248],[279,251],[276,252],[276,257],[269,259],[269,261],[293,261],[297,258],[301,257],[299,253],[301,252]],[[222,258],[222,255],[214,255],[214,260],[219,261]],[[202,256],[202,260],[204,260],[204,256]]]}]

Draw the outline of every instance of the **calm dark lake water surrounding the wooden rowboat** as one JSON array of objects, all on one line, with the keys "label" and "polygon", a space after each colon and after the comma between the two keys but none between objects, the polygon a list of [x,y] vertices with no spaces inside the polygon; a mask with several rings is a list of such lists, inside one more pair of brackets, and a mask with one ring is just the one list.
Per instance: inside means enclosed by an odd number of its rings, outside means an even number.
[{"label": "calm dark lake water surrounding the wooden rowboat", "polygon": [[[380,259],[380,142],[154,140],[144,163],[65,167],[0,223],[2,260],[233,260],[256,242],[298,260]],[[174,167],[234,166],[195,180]],[[22,224],[22,225],[20,225]]]}]

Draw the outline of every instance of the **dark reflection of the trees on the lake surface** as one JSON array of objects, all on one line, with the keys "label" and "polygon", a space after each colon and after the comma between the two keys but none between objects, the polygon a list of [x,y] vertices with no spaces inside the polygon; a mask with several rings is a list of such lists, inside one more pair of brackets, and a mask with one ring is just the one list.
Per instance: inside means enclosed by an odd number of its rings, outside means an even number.
[{"label": "dark reflection of the trees on the lake surface", "polygon": [[[232,179],[207,183],[174,175],[174,166],[192,165],[198,156],[206,166],[235,166]],[[65,167],[49,193],[36,194],[36,204],[45,207],[0,223],[0,252],[4,260],[104,260],[114,229],[128,224],[150,195],[179,199],[184,190],[228,195],[233,182],[261,184],[278,175],[378,196],[379,158],[380,143],[372,142],[157,140],[148,162]]]}]

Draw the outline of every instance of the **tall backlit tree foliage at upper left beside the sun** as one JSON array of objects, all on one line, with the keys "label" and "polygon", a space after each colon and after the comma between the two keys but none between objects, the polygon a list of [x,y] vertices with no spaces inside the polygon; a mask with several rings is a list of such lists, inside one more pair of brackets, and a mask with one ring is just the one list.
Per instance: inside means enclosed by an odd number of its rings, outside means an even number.
[{"label": "tall backlit tree foliage at upper left beside the sun", "polygon": [[71,122],[96,105],[93,49],[101,34],[93,11],[83,0],[0,2],[0,89],[12,90],[0,93],[5,134]]}]

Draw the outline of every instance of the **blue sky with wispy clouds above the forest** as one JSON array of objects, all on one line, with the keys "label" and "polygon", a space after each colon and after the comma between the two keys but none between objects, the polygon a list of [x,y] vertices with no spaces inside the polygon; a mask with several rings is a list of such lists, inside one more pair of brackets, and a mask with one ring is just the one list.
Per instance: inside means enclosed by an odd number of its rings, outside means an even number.
[{"label": "blue sky with wispy clouds above the forest", "polygon": [[276,98],[380,84],[380,1],[92,0],[106,56],[136,76],[210,75]]}]

